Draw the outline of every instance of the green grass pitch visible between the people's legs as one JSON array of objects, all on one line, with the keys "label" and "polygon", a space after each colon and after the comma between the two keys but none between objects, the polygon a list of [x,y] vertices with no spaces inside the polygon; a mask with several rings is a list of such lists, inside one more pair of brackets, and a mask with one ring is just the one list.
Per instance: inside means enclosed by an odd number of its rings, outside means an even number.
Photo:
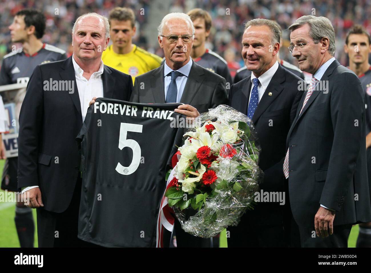
[{"label": "green grass pitch visible between the people's legs", "polygon": [[[3,173],[5,160],[0,160],[0,174]],[[0,175],[1,177],[1,175]],[[0,202],[0,247],[19,247],[19,241],[14,224],[15,203]],[[33,209],[36,224],[36,211]],[[348,240],[348,247],[355,247],[358,237],[358,225],[353,226]],[[35,231],[35,247],[37,247],[37,233]],[[226,230],[220,234],[220,247],[227,247]]]}]

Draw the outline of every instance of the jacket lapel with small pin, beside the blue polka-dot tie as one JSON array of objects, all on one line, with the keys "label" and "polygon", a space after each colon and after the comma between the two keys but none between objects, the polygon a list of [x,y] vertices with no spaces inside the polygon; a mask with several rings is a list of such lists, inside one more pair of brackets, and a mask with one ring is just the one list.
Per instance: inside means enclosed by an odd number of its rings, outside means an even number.
[{"label": "jacket lapel with small pin, beside the blue polka-dot tie", "polygon": [[[257,120],[259,120],[260,116],[264,113],[264,111],[269,107],[273,101],[278,97],[280,92],[283,90],[283,82],[285,81],[285,71],[283,68],[278,65],[278,69],[276,73],[273,75],[272,79],[265,90],[262,99],[259,101],[255,113],[253,115],[252,121],[256,124]],[[251,81],[250,81],[251,82]],[[271,95],[269,95],[271,94]]]}]

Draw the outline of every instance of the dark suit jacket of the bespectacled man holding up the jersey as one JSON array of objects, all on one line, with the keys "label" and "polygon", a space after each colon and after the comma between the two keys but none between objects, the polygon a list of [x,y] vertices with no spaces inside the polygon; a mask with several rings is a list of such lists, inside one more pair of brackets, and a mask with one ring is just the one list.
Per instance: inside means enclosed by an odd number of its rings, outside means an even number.
[{"label": "dark suit jacket of the bespectacled man holding up the jersey", "polygon": [[[135,78],[130,101],[165,103],[164,64]],[[190,104],[204,113],[209,108],[227,104],[226,80],[193,62],[180,103]]]}]

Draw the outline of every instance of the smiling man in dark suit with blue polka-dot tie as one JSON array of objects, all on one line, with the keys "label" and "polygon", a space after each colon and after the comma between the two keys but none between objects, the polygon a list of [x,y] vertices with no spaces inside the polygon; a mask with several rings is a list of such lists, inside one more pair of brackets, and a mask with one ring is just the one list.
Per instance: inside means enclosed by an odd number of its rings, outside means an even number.
[{"label": "smiling man in dark suit with blue polka-dot tie", "polygon": [[247,22],[242,37],[242,57],[252,74],[232,85],[229,105],[250,117],[255,126],[262,149],[259,167],[265,174],[260,192],[278,192],[283,199],[257,203],[236,227],[227,228],[228,247],[286,246],[282,163],[287,133],[303,91],[298,88],[301,78],[277,61],[280,34],[279,27],[270,20]]}]

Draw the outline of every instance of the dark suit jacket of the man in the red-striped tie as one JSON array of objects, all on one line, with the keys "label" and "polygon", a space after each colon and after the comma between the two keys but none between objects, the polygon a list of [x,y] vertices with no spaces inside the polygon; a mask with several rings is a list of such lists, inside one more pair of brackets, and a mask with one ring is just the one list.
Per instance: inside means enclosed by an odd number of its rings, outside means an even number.
[{"label": "dark suit jacket of the man in the red-striped tie", "polygon": [[370,222],[361,83],[336,60],[321,81],[327,88],[316,88],[299,115],[303,94],[287,137],[293,217],[313,227],[322,204],[336,211],[334,225]]}]

